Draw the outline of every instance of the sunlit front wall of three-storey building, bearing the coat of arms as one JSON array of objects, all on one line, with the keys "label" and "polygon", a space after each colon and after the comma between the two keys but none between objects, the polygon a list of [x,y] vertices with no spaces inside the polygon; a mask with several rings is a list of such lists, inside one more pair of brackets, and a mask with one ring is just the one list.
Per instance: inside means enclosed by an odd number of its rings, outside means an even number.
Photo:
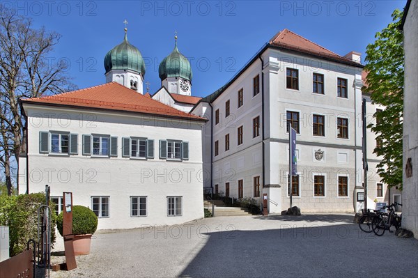
[{"label": "sunlit front wall of three-storey building, bearing the coat of arms", "polygon": [[[361,69],[329,61],[307,58],[270,49],[265,59],[268,77],[270,169],[266,183],[280,185],[281,209],[289,206],[288,197],[288,132],[286,111],[300,115],[300,133],[297,134],[297,171],[300,176],[300,196],[293,197],[293,206],[302,211],[353,211],[356,185],[361,185],[361,134],[357,114],[361,111]],[[299,72],[299,89],[286,88],[286,68]],[[323,95],[313,93],[313,73],[324,75]],[[337,98],[336,82],[348,80],[348,98]],[[313,114],[325,116],[325,136],[313,135]],[[348,139],[337,138],[336,118],[348,118]],[[323,151],[323,159],[315,158],[315,151]],[[338,158],[340,157],[340,159]],[[345,157],[341,159],[341,157]],[[314,196],[314,175],[325,176],[325,196]],[[339,197],[338,176],[348,176],[348,196]]]}]

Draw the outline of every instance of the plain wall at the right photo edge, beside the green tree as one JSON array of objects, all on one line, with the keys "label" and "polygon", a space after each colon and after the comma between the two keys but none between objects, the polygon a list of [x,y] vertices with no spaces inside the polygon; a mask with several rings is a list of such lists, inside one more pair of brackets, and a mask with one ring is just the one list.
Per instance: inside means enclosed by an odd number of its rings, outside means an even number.
[{"label": "plain wall at the right photo edge, beside the green tree", "polygon": [[[403,26],[405,85],[403,108],[403,220],[402,226],[418,238],[418,3],[411,1]],[[407,161],[412,162],[412,176],[407,177]]]}]

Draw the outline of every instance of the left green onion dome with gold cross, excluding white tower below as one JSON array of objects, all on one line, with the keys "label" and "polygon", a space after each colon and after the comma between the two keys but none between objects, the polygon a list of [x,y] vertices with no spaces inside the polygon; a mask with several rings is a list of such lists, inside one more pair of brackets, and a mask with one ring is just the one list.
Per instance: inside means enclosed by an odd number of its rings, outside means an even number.
[{"label": "left green onion dome with gold cross, excluding white tower below", "polygon": [[145,63],[141,52],[127,41],[125,29],[125,38],[120,45],[116,45],[104,56],[105,73],[111,70],[133,70],[134,72],[145,75]]}]

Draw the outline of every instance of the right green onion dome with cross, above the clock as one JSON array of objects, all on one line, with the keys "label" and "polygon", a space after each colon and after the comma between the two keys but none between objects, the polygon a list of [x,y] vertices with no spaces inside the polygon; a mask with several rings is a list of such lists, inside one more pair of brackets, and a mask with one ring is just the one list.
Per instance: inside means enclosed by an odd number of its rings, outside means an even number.
[{"label": "right green onion dome with cross, above the clock", "polygon": [[189,60],[178,51],[177,37],[173,52],[162,60],[158,73],[161,80],[167,77],[180,77],[192,82],[192,67]]}]

